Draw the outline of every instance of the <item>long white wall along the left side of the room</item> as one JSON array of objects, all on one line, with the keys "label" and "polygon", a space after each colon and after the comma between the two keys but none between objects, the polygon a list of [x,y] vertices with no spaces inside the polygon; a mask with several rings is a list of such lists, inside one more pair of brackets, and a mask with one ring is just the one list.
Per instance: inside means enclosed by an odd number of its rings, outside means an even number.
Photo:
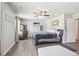
[{"label": "long white wall along the left side of the room", "polygon": [[11,8],[2,3],[2,40],[1,55],[5,55],[9,49],[15,44],[15,15]]}]

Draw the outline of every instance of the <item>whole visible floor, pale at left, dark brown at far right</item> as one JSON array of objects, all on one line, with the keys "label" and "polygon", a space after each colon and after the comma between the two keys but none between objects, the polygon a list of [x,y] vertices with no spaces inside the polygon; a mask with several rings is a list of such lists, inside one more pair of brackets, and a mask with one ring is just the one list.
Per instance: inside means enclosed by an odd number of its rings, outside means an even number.
[{"label": "whole visible floor, pale at left, dark brown at far right", "polygon": [[[17,43],[16,46],[14,47],[14,49],[6,56],[38,56],[37,53],[38,48],[51,45],[62,45],[62,44],[50,43],[35,46],[32,38],[29,38],[19,41],[19,43]],[[75,46],[74,43],[64,44],[63,46],[79,54],[79,47]]]}]

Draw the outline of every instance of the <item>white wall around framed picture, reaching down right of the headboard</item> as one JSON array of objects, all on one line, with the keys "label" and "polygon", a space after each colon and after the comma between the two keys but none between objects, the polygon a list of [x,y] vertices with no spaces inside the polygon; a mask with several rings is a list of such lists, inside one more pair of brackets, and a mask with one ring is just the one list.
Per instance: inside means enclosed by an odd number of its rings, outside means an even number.
[{"label": "white wall around framed picture, reaching down right of the headboard", "polygon": [[[52,21],[58,20],[59,25],[58,26],[53,26]],[[63,35],[63,43],[66,41],[66,32],[65,32],[65,20],[64,20],[64,14],[60,14],[56,17],[53,17],[51,20],[47,20],[47,29],[49,30],[57,30],[57,29],[63,29],[64,30],[64,35]]]}]

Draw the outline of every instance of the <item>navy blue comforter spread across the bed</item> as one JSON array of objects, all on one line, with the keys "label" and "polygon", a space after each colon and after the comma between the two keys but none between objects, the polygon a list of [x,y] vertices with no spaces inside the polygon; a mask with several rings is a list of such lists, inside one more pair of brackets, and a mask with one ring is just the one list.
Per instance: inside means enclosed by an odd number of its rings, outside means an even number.
[{"label": "navy blue comforter spread across the bed", "polygon": [[37,42],[39,39],[50,39],[50,38],[57,38],[57,33],[56,32],[36,32],[33,33],[33,39]]}]

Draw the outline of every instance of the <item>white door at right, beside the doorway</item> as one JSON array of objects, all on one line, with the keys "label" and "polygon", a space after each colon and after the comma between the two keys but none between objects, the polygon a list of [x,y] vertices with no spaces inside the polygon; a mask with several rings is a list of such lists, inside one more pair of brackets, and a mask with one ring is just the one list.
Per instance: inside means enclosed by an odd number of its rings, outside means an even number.
[{"label": "white door at right, beside the doorway", "polygon": [[67,19],[67,40],[66,42],[75,42],[75,21],[74,19]]}]

